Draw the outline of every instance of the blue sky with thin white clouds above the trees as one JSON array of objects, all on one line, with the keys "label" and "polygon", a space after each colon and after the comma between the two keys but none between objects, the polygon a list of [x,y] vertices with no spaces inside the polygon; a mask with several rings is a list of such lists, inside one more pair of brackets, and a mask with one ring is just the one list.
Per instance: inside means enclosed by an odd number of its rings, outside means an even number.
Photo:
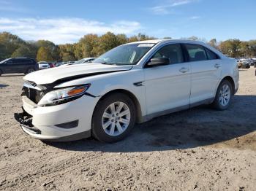
[{"label": "blue sky with thin white clouds above the trees", "polygon": [[73,43],[85,34],[256,39],[255,0],[0,0],[0,32]]}]

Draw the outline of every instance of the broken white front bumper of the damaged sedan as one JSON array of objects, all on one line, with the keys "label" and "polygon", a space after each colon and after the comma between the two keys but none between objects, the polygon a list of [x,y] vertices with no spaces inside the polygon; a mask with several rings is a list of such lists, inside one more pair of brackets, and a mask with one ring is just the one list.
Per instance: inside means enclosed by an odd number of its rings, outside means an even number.
[{"label": "broken white front bumper of the damaged sedan", "polygon": [[91,118],[97,100],[98,98],[83,95],[66,104],[41,107],[23,96],[23,113],[15,114],[15,120],[20,123],[25,133],[35,139],[83,139],[91,136]]}]

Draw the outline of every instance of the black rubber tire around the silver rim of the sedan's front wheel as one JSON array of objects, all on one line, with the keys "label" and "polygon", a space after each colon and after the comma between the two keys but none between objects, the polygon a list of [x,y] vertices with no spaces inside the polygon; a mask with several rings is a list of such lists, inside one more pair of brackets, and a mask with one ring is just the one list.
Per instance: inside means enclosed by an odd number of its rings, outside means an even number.
[{"label": "black rubber tire around the silver rim of the sedan's front wheel", "polygon": [[[108,135],[108,133],[105,132],[105,130],[102,127],[102,116],[105,112],[105,109],[107,109],[108,106],[110,106],[110,104],[113,104],[118,101],[123,102],[129,108],[129,112],[130,112],[129,125],[126,128],[126,130],[124,130],[124,132],[121,133],[120,135],[110,136]],[[94,136],[95,139],[98,139],[99,141],[102,141],[102,142],[112,143],[112,142],[120,141],[130,133],[133,126],[135,125],[135,119],[136,119],[136,109],[132,99],[129,98],[127,95],[124,95],[123,93],[110,94],[106,98],[103,98],[101,101],[99,101],[99,103],[94,109],[94,114],[92,117],[92,125],[91,125],[92,135]],[[116,129],[116,126],[115,126],[115,129]]]}]

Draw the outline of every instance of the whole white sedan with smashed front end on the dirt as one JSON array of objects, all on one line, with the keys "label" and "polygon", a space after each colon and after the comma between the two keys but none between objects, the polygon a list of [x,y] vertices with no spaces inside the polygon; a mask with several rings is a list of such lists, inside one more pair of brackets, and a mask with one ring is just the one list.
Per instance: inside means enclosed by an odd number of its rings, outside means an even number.
[{"label": "whole white sedan with smashed front end on the dirt", "polygon": [[208,44],[157,39],[124,44],[94,64],[24,77],[23,130],[36,139],[124,139],[135,122],[212,104],[227,109],[238,90],[236,60]]}]

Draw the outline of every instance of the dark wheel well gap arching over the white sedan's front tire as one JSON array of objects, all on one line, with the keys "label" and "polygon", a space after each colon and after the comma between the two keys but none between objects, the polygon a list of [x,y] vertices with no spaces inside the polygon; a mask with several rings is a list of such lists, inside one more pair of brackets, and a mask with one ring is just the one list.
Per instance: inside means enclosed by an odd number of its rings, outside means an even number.
[{"label": "dark wheel well gap arching over the white sedan's front tire", "polygon": [[129,92],[128,90],[124,90],[124,89],[112,90],[112,91],[106,93],[105,95],[103,95],[102,98],[99,99],[99,101],[110,96],[113,93],[124,93],[124,95],[127,95],[130,99],[132,99],[133,103],[135,104],[135,108],[136,108],[136,122],[143,122],[140,103],[139,103],[138,99],[135,97],[135,95],[133,93]]}]

